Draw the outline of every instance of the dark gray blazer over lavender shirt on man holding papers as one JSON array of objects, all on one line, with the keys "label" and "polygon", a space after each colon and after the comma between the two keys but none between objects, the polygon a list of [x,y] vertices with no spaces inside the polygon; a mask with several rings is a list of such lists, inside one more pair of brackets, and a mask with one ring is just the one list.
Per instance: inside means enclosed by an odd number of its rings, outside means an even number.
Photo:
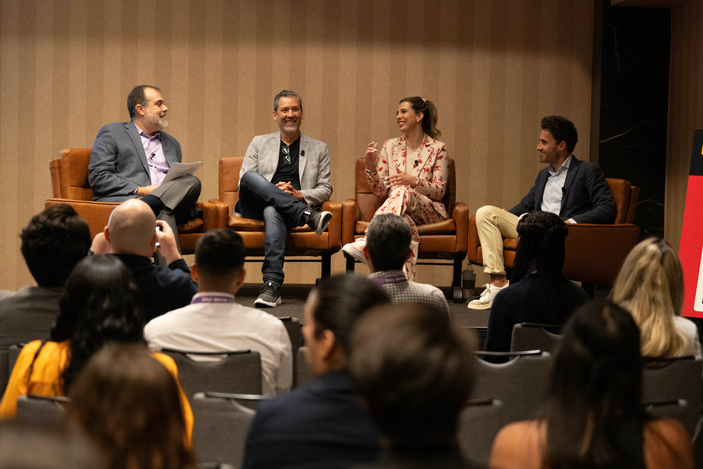
[{"label": "dark gray blazer over lavender shirt on man holding papers", "polygon": [[[181,162],[181,144],[164,131],[161,145],[169,167]],[[105,124],[100,129],[90,151],[88,184],[93,200],[100,202],[124,202],[136,197],[136,188],[151,186],[144,146],[134,122]]]}]

